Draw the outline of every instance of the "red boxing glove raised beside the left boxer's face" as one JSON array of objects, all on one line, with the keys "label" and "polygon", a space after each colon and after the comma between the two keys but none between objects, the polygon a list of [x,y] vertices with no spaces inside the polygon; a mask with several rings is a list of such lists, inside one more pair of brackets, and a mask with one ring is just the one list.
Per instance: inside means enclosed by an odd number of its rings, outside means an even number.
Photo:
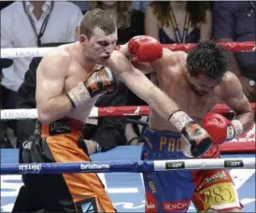
[{"label": "red boxing glove raised beside the left boxer's face", "polygon": [[135,63],[150,63],[162,58],[161,43],[151,36],[135,36],[128,42],[128,52],[135,55]]}]

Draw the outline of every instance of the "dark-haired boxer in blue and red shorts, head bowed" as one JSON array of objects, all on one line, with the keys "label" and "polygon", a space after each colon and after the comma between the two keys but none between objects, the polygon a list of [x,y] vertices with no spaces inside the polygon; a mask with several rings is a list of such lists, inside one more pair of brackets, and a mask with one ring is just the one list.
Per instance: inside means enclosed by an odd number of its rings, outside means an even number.
[{"label": "dark-haired boxer in blue and red shorts, head bowed", "polygon": [[[145,73],[156,72],[155,83],[192,118],[192,123],[202,125],[213,140],[213,146],[206,153],[195,153],[196,139],[188,142],[186,133],[150,108],[142,160],[180,159],[180,163],[168,165],[171,170],[182,168],[183,159],[220,158],[220,144],[249,129],[253,124],[253,111],[239,79],[227,70],[228,63],[225,51],[206,40],[188,54],[164,49],[163,57],[157,61],[135,64]],[[211,112],[218,103],[235,111],[232,121]],[[197,135],[200,131],[195,128],[192,124],[189,130]],[[242,208],[232,178],[225,169],[151,172],[143,177],[146,212],[186,212],[191,202],[200,212],[239,212]]]}]

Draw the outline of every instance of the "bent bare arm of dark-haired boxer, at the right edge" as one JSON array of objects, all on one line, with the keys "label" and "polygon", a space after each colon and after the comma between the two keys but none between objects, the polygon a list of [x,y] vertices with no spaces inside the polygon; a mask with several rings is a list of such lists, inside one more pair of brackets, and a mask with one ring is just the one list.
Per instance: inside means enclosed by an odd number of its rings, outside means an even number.
[{"label": "bent bare arm of dark-haired boxer, at the right edge", "polygon": [[221,84],[222,100],[235,111],[235,120],[243,124],[243,131],[246,132],[253,124],[254,115],[239,79],[229,72]]}]

